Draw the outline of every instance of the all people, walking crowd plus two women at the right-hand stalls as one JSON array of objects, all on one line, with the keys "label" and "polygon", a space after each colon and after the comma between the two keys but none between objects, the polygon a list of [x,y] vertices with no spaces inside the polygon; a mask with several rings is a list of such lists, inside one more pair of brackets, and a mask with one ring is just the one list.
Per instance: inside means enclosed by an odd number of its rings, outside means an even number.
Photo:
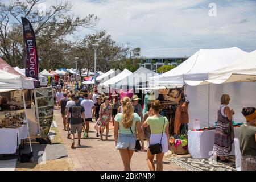
[{"label": "all people, walking crowd plus two women at the right-hand stalls", "polygon": [[[108,140],[109,125],[114,126],[115,148],[119,150],[124,169],[131,170],[130,162],[134,151],[146,151],[144,141],[147,141],[147,160],[150,170],[163,170],[164,153],[170,150],[169,121],[160,115],[158,101],[147,104],[146,113],[142,114],[140,98],[123,97],[117,93],[106,96],[98,93],[97,88],[90,91],[88,86],[80,86],[75,82],[75,89],[69,84],[55,86],[55,100],[60,107],[63,117],[64,130],[68,131],[68,138],[72,140],[71,148],[75,148],[75,133],[78,134],[77,146],[81,145],[81,138],[89,138],[90,122],[95,118],[94,130],[96,137]],[[218,110],[218,121],[214,137],[213,152],[217,160],[226,162],[226,156],[232,151],[234,142],[233,115],[234,110],[228,106],[230,97],[224,94]],[[247,123],[241,127],[240,150],[242,152],[242,170],[256,169],[256,111],[254,107],[242,110]],[[84,135],[82,135],[84,132]],[[105,139],[103,138],[105,132]],[[156,164],[154,165],[154,156]]]}]

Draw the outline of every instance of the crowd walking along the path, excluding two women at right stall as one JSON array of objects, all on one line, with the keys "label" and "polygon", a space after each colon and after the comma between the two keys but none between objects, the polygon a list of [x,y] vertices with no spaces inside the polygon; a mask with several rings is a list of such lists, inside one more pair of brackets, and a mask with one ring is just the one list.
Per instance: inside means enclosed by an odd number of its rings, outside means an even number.
[{"label": "crowd walking along the path, excluding two women at right stall", "polygon": [[[67,84],[66,84],[67,83]],[[159,114],[159,102],[148,104],[147,113],[142,115],[141,100],[137,95],[132,98],[123,97],[121,100],[117,93],[106,96],[98,93],[97,88],[93,93],[88,86],[80,86],[75,82],[75,89],[68,82],[60,82],[53,88],[56,107],[63,118],[64,130],[68,132],[67,138],[72,140],[71,148],[75,148],[75,134],[77,133],[77,146],[81,146],[81,139],[89,138],[90,122],[95,118],[94,130],[96,137],[108,140],[109,125],[114,126],[115,148],[119,150],[124,169],[131,170],[130,162],[134,151],[146,152],[144,140],[150,145],[161,144],[162,150],[153,153],[148,149],[148,167],[155,170],[154,155],[156,154],[157,170],[163,170],[162,160],[164,152],[170,149],[168,142],[168,120]],[[82,135],[82,133],[84,133]],[[105,133],[105,138],[104,138]]]}]

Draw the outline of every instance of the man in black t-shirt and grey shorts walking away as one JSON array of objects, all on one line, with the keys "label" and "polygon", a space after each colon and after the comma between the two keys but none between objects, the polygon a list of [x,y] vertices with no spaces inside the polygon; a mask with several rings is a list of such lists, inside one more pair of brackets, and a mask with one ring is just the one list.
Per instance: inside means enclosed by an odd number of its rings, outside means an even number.
[{"label": "man in black t-shirt and grey shorts walking away", "polygon": [[78,146],[81,146],[80,139],[82,135],[82,122],[85,121],[85,115],[84,115],[84,107],[79,104],[79,96],[74,97],[75,104],[73,104],[71,107],[69,107],[68,110],[68,116],[70,119],[71,124],[71,140],[72,145],[71,148],[75,148],[75,133],[77,131],[78,134]]}]

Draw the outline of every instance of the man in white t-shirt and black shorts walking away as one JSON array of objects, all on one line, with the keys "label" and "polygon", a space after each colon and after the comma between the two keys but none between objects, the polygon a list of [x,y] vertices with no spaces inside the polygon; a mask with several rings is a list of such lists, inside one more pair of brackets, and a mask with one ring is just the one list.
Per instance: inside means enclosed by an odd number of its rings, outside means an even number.
[{"label": "man in white t-shirt and black shorts walking away", "polygon": [[92,122],[92,110],[94,109],[94,102],[92,100],[88,99],[88,93],[84,94],[84,100],[81,102],[81,106],[84,107],[85,109],[85,125],[86,125],[86,132],[84,133],[83,138],[88,138],[89,135],[89,128],[90,128],[90,123]]}]

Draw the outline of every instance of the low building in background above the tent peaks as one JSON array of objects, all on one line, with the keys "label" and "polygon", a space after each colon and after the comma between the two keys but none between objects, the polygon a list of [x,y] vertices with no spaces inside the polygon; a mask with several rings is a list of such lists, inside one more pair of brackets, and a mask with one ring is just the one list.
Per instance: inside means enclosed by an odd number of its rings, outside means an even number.
[{"label": "low building in background above the tent peaks", "polygon": [[187,60],[189,57],[141,57],[139,67],[145,67],[156,72],[162,65],[179,65]]}]

